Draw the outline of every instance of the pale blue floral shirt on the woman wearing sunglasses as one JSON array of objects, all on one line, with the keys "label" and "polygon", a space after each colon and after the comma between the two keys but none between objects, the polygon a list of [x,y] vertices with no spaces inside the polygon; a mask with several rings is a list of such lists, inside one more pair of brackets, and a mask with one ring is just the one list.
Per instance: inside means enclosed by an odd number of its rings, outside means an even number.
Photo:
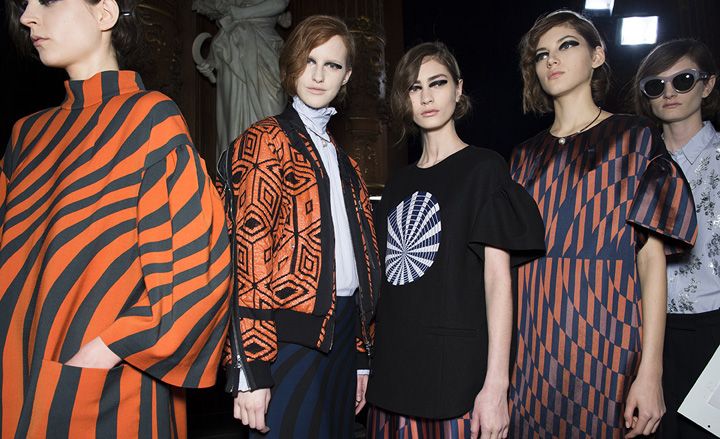
[{"label": "pale blue floral shirt on the woman wearing sunglasses", "polygon": [[668,312],[720,308],[720,133],[710,122],[671,153],[690,182],[698,236],[693,249],[668,262]]}]

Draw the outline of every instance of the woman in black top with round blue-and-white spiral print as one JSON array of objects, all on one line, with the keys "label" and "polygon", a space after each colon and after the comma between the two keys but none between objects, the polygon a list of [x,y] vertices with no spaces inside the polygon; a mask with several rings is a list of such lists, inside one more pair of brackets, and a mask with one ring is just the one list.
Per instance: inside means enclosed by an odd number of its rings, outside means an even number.
[{"label": "woman in black top with round blue-and-white spiral print", "polygon": [[393,82],[393,114],[423,152],[386,185],[376,217],[369,436],[506,437],[510,267],[542,254],[543,224],[502,157],[457,135],[470,105],[443,44],[410,49]]}]

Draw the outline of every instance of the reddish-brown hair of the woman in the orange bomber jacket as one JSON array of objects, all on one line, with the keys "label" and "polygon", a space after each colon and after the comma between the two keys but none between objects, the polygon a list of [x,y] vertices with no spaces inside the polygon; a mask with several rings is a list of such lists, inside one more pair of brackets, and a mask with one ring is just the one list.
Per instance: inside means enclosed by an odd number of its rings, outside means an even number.
[{"label": "reddish-brown hair of the woman in the orange bomber jacket", "polygon": [[[349,70],[355,59],[355,43],[344,21],[329,15],[311,15],[290,32],[280,52],[279,61],[280,85],[285,93],[290,96],[297,94],[295,84],[305,71],[308,55],[314,48],[325,44],[336,35],[345,43]],[[336,99],[342,101],[346,93],[346,86],[343,85]]]}]

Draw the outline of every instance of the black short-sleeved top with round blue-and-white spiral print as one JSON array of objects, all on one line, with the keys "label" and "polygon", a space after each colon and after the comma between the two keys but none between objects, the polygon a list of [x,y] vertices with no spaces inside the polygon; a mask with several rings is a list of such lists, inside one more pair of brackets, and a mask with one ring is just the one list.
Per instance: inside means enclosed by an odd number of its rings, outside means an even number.
[{"label": "black short-sleeved top with round blue-and-white spiral print", "polygon": [[401,170],[376,213],[383,282],[368,401],[403,415],[472,409],[487,363],[484,248],[522,264],[544,250],[532,198],[497,153],[465,147]]}]

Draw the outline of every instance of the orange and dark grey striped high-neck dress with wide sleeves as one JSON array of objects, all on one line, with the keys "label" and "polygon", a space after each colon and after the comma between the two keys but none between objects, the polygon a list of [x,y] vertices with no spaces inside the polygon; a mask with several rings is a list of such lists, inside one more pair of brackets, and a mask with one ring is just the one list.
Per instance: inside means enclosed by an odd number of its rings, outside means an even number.
[{"label": "orange and dark grey striped high-neck dress with wide sleeves", "polygon": [[[179,109],[130,71],[16,123],[0,176],[3,438],[185,437],[214,384],[230,257]],[[64,364],[101,337],[113,369]]]}]

